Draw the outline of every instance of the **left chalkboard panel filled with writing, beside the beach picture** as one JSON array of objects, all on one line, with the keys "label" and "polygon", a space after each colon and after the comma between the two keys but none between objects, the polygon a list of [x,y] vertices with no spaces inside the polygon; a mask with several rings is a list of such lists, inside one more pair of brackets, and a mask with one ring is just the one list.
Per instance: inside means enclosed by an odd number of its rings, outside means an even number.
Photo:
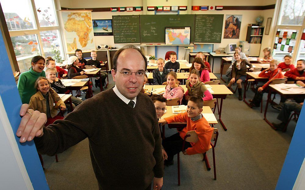
[{"label": "left chalkboard panel filled with writing, beside the beach picture", "polygon": [[139,15],[112,16],[114,43],[140,43]]}]

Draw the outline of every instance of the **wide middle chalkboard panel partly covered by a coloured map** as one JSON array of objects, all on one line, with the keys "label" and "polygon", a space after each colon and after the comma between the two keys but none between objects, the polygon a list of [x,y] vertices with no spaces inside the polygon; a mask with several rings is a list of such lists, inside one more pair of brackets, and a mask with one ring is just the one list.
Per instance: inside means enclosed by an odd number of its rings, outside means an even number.
[{"label": "wide middle chalkboard panel partly covered by a coloured map", "polygon": [[142,43],[165,42],[165,27],[191,27],[191,42],[194,37],[195,15],[140,15]]}]

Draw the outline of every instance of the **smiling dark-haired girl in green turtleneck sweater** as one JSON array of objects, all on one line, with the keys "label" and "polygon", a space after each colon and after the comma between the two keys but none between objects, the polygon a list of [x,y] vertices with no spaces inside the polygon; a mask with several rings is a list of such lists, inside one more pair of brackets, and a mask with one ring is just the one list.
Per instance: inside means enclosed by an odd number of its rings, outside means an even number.
[{"label": "smiling dark-haired girl in green turtleneck sweater", "polygon": [[29,71],[23,72],[19,76],[18,91],[23,104],[28,104],[32,95],[36,93],[34,87],[38,77],[45,77],[45,58],[35,56],[31,60],[32,67]]}]

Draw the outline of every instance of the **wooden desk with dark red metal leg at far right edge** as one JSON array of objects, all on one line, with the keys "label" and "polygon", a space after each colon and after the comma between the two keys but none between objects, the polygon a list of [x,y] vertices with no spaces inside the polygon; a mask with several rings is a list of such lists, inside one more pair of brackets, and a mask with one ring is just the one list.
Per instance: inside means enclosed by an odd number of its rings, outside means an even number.
[{"label": "wooden desk with dark red metal leg at far right edge", "polygon": [[[283,90],[278,85],[269,85],[269,92],[267,100],[271,99],[271,92],[277,92],[279,95],[284,96],[285,98],[295,98],[295,97],[305,97],[305,88],[296,88],[297,92],[292,92],[289,89]],[[269,101],[267,101],[265,112],[264,112],[264,120],[273,128],[276,129],[270,121],[267,119],[267,109],[268,109]]]}]

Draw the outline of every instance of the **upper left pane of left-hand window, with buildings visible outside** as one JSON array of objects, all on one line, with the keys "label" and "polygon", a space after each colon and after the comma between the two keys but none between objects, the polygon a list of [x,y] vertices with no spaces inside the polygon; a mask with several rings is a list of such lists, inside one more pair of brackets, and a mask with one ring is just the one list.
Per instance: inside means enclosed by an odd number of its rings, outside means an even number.
[{"label": "upper left pane of left-hand window, with buildings visible outside", "polygon": [[27,0],[0,0],[9,30],[36,29],[31,3]]}]

